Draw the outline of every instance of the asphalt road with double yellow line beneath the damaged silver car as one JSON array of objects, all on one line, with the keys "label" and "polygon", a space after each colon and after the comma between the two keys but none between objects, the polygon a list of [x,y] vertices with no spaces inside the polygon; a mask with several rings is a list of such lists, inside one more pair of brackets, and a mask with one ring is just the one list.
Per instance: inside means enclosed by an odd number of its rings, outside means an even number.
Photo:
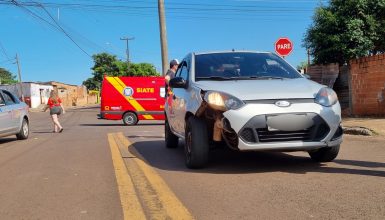
[{"label": "asphalt road with double yellow line beneath the damaged silver car", "polygon": [[345,135],[332,163],[216,149],[189,170],[162,122],[125,127],[97,112],[67,111],[61,134],[31,113],[28,140],[0,139],[0,219],[384,219],[385,137]]}]

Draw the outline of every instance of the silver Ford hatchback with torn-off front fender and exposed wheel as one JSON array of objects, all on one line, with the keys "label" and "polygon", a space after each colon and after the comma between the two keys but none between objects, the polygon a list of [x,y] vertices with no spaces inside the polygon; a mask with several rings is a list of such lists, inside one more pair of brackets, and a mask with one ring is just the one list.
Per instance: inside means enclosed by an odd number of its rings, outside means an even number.
[{"label": "silver Ford hatchback with torn-off front fender and exposed wheel", "polygon": [[307,151],[319,162],[342,142],[336,93],[267,52],[191,53],[170,80],[165,113],[168,148],[185,140],[186,165],[204,167],[209,150]]}]

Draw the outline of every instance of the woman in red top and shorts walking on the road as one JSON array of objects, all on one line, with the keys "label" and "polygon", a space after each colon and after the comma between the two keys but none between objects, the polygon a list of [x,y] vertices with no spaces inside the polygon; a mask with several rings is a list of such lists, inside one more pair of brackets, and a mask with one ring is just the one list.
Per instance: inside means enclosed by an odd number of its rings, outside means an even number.
[{"label": "woman in red top and shorts walking on the road", "polygon": [[59,122],[59,115],[62,113],[64,114],[65,111],[61,99],[58,97],[57,93],[54,90],[51,91],[47,105],[49,107],[49,114],[51,115],[54,126],[53,132],[63,132],[63,127]]}]

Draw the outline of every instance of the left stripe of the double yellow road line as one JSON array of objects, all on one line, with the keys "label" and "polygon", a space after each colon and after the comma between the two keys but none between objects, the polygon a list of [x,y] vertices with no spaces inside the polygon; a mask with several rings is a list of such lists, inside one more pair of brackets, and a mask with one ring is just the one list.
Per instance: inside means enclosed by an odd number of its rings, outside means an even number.
[{"label": "left stripe of the double yellow road line", "polygon": [[134,184],[127,173],[127,168],[112,134],[108,134],[108,142],[110,144],[124,219],[146,219],[139,199],[136,196]]}]

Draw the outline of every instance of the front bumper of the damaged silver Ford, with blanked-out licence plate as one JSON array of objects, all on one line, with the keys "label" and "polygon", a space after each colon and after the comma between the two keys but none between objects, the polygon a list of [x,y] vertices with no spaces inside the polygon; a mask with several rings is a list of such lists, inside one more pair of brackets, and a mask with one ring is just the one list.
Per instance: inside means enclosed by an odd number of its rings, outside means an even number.
[{"label": "front bumper of the damaged silver Ford, with blanked-out licence plate", "polygon": [[[342,142],[339,103],[332,107],[316,103],[293,103],[289,107],[251,103],[223,115],[237,133],[237,148],[242,151],[311,151]],[[280,117],[268,119],[275,116]],[[271,128],[272,124],[276,127]],[[247,129],[252,138],[245,138],[243,132]]]}]

